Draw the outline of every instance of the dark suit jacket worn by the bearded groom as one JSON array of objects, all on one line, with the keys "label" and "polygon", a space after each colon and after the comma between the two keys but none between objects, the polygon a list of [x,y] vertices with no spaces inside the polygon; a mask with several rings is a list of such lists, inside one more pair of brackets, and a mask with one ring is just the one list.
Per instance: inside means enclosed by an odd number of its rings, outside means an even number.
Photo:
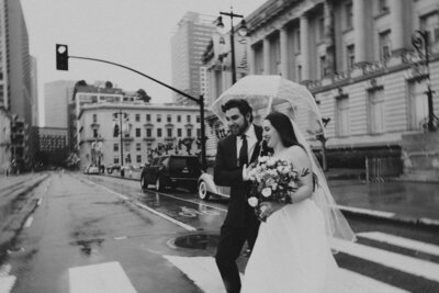
[{"label": "dark suit jacket worn by the bearded groom", "polygon": [[[255,125],[255,134],[258,143],[250,157],[250,162],[256,161],[258,158],[262,127]],[[254,209],[247,203],[251,183],[250,181],[243,182],[243,167],[238,166],[235,135],[229,135],[218,142],[214,181],[217,185],[230,187],[230,200],[225,224],[245,227],[257,221]]]}]

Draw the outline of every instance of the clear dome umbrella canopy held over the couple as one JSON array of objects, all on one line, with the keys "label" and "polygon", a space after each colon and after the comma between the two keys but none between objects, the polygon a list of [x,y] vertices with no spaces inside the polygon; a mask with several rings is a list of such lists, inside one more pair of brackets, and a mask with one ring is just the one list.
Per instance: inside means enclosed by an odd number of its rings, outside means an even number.
[{"label": "clear dome umbrella canopy held over the couple", "polygon": [[246,76],[224,91],[211,111],[226,125],[222,105],[232,99],[244,99],[254,109],[256,123],[268,113],[279,111],[300,124],[306,133],[324,132],[320,111],[306,87],[281,76]]}]

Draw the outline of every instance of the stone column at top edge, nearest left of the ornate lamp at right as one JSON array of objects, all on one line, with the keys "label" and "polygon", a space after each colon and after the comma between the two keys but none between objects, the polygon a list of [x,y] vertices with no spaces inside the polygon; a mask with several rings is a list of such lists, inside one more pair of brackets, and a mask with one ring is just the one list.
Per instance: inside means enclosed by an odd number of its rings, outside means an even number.
[{"label": "stone column at top edge, nearest left of the ornate lamp at right", "polygon": [[391,41],[392,52],[398,53],[404,50],[404,1],[390,0],[389,5],[391,10]]}]

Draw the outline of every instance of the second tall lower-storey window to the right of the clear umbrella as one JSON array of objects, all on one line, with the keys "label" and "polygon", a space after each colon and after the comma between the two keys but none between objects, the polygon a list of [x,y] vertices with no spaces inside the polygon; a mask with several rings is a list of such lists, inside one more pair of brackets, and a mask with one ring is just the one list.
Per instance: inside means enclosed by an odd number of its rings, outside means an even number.
[{"label": "second tall lower-storey window to the right of the clear umbrella", "polygon": [[371,134],[384,132],[384,90],[369,92],[369,127]]}]

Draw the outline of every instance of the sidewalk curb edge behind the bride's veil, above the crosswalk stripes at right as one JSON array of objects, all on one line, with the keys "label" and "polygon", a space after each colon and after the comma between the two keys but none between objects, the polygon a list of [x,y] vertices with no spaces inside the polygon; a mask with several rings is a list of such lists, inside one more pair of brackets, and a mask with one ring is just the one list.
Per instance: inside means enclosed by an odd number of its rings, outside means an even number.
[{"label": "sidewalk curb edge behind the bride's veil, above the crosswalk stripes at right", "polygon": [[337,205],[338,209],[344,214],[351,214],[371,218],[385,219],[394,223],[401,224],[409,224],[409,225],[418,225],[426,228],[439,228],[439,219],[428,218],[428,217],[409,217],[402,216],[393,212],[381,212],[374,210],[368,210],[362,207],[353,207],[346,205]]}]

